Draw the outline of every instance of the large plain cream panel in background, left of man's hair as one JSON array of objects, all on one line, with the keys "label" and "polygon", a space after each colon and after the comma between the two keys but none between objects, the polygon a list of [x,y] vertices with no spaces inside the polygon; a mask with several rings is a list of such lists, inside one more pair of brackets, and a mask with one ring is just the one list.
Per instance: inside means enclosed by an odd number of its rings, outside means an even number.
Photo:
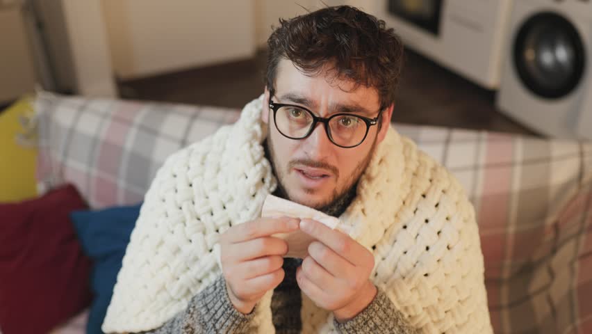
[{"label": "large plain cream panel in background, left of man's hair", "polygon": [[111,59],[132,79],[254,55],[254,0],[103,0]]}]

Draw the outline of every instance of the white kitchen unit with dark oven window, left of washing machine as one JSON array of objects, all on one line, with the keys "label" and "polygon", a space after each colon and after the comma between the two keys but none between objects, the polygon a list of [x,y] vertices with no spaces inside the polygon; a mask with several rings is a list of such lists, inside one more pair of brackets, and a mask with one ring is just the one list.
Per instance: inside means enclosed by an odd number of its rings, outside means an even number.
[{"label": "white kitchen unit with dark oven window, left of washing machine", "polygon": [[[521,0],[519,0],[521,1]],[[352,1],[418,53],[488,89],[500,84],[512,0]]]}]

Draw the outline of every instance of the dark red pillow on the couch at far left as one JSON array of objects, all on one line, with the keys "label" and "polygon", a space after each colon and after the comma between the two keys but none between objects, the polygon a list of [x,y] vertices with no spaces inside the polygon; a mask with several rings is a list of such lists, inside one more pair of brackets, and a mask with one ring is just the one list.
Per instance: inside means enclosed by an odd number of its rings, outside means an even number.
[{"label": "dark red pillow on the couch at far left", "polygon": [[90,260],[69,213],[87,205],[72,184],[0,204],[0,330],[47,333],[91,301]]}]

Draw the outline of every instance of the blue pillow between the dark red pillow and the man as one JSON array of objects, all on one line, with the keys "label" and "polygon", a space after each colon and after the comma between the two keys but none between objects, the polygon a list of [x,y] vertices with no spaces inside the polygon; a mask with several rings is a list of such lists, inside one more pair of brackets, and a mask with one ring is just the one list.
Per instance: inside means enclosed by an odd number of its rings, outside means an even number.
[{"label": "blue pillow between the dark red pillow and the man", "polygon": [[131,231],[140,215],[140,207],[141,202],[129,207],[70,213],[82,248],[94,261],[90,274],[94,299],[86,325],[88,334],[103,333],[101,325],[111,301],[117,273],[122,267]]}]

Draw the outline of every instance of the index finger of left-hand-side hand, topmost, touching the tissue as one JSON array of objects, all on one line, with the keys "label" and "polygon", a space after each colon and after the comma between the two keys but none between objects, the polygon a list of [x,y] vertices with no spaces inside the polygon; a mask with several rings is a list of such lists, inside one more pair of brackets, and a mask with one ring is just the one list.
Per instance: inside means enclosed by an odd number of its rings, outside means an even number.
[{"label": "index finger of left-hand-side hand, topmost, touching the tissue", "polygon": [[276,233],[288,233],[298,229],[297,218],[259,218],[254,221],[236,225],[227,231],[227,240],[231,243],[267,237]]}]

